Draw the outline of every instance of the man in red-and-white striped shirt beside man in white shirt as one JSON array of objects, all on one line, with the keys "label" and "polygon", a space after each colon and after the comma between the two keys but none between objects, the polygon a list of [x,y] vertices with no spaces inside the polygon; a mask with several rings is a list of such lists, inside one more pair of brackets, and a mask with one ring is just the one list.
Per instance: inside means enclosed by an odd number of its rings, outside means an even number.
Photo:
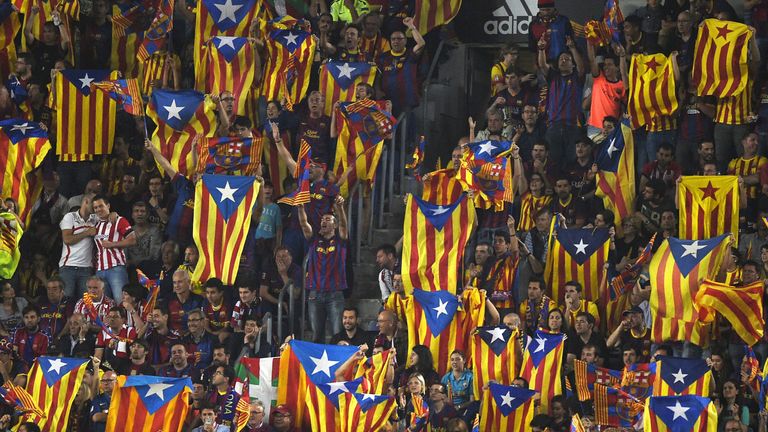
[{"label": "man in red-and-white striped shirt beside man in white shirt", "polygon": [[118,216],[114,221],[109,217],[109,199],[104,195],[93,198],[93,212],[99,218],[96,226],[96,274],[106,281],[107,293],[120,301],[123,286],[128,283],[125,270],[125,248],[136,244],[136,235],[128,220]]}]

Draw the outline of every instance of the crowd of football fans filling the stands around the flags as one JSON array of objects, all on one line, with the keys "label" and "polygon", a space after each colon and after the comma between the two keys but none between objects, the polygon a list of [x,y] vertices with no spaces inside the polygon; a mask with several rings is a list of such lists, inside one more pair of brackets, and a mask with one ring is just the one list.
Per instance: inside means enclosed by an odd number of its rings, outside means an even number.
[{"label": "crowd of football fans filling the stands around the flags", "polygon": [[[0,117],[28,115],[51,131],[55,145],[53,131],[62,125],[56,124],[56,113],[47,102],[52,77],[66,69],[108,69],[111,58],[125,55],[111,46],[110,15],[112,10],[125,11],[130,3],[81,0],[79,22],[64,26],[54,11],[40,39],[31,25],[25,26],[16,43],[11,76],[0,88]],[[193,280],[200,259],[192,233],[199,180],[186,178],[150,142],[145,128],[149,126],[151,134],[151,122],[144,126],[120,111],[111,154],[71,162],[57,160],[51,152],[43,161],[42,192],[28,203],[31,219],[24,224],[18,246],[18,270],[0,283],[0,384],[25,387],[27,372],[39,356],[90,358],[63,430],[104,431],[121,375],[189,377],[193,388],[184,430],[234,430],[234,407],[240,397],[235,367],[242,358],[279,356],[288,345],[265,325],[267,319],[276,319],[279,309],[301,310],[302,305],[287,303],[287,295],[281,303],[281,292],[287,289],[294,290],[297,298],[306,290],[314,342],[359,347],[355,360],[394,350],[385,388],[395,396],[398,409],[385,430],[471,429],[480,403],[472,391],[476,378],[467,362],[469,353],[456,350],[433,358],[423,345],[409,351],[408,320],[401,307],[408,297],[401,279],[406,265],[400,262],[402,244],[375,245],[382,309],[375,329],[359,322],[360,312],[350,299],[355,287],[349,250],[350,224],[358,221],[347,220],[340,192],[344,179],[333,171],[336,146],[342,145],[336,143],[336,112],[325,114],[325,95],[319,87],[318,69],[329,59],[371,62],[379,75],[374,85],[357,85],[356,99],[386,100],[395,115],[417,107],[429,50],[410,18],[413,2],[309,3],[306,18],[318,49],[305,101],[293,111],[285,107],[285,100],[262,101],[262,115],[249,116],[238,112],[231,93],[213,95],[218,136],[263,136],[265,145],[278,149],[291,172],[302,141],[310,144],[313,155],[311,198],[304,205],[278,203],[275,191],[287,194],[296,182],[287,173],[283,184],[273,184],[275,176],[263,164],[250,222],[253,234],[246,240],[233,285],[217,278]],[[172,51],[158,54],[167,58],[167,72],[151,83],[152,88],[193,87],[195,11],[189,4],[176,4]],[[565,391],[576,385],[575,361],[622,370],[663,355],[706,359],[713,377],[707,396],[717,409],[716,430],[766,431],[768,411],[760,409],[759,388],[755,390],[749,373],[750,357],[743,354],[744,341],[728,322],[718,322],[718,331],[706,346],[652,343],[647,264],[622,297],[620,310],[611,313],[606,304],[585,300],[576,281],[560,287],[563,301],[552,299],[543,272],[553,217],[569,228],[608,228],[606,266],[621,272],[635,262],[653,235],[678,236],[676,190],[681,176],[729,174],[738,176],[745,202],[739,211],[738,244],[723,265],[724,280],[742,286],[768,277],[768,226],[762,222],[768,214],[768,111],[764,110],[768,80],[763,80],[768,1],[744,0],[744,12],[739,14],[734,6],[740,5],[726,0],[663,4],[647,0],[646,6],[625,11],[620,41],[602,47],[584,43],[555,6],[553,0],[538,0],[527,46],[504,46],[490,71],[477,71],[490,74],[487,110],[469,118],[467,136],[456,137],[448,168],[427,172],[422,167],[420,173],[424,182],[445,172],[453,178],[467,144],[495,140],[513,145],[509,159],[514,198],[501,210],[477,210],[477,226],[456,278],[460,291],[478,288],[488,296],[486,322],[479,325],[502,324],[516,332],[521,349],[515,356],[523,355],[523,347],[538,329],[566,335],[563,394],[551,398],[548,409],[537,413],[524,430],[571,430],[575,413],[586,430],[620,430],[597,426],[594,404]],[[31,14],[38,13],[40,9],[33,6]],[[596,10],[593,15],[601,13]],[[693,51],[699,24],[709,18],[750,26],[748,83],[742,94],[728,98],[696,94],[691,81]],[[251,36],[257,41],[267,37],[258,26],[252,27]],[[263,43],[257,47],[256,55],[264,64],[268,53]],[[68,60],[70,48],[74,64]],[[595,158],[612,145],[607,138],[621,129],[627,116],[631,57],[652,53],[667,54],[674,62],[680,103],[671,115],[650,113],[651,121],[632,132],[638,198],[631,214],[615,226],[613,211],[596,195]],[[262,72],[255,76],[257,88]],[[14,85],[26,91],[30,112],[22,112],[17,104]],[[416,141],[408,143],[409,149],[418,145]],[[13,213],[19,203],[6,199],[2,206]],[[307,267],[302,268],[305,259]],[[158,301],[146,314],[148,291],[136,270],[159,285]],[[98,320],[89,313],[84,295]],[[768,339],[752,349],[762,365],[768,357]],[[438,369],[448,372],[441,376]],[[528,387],[520,377],[504,384]],[[415,396],[428,401],[426,421],[410,420],[420,409],[414,406]],[[252,398],[243,430],[298,430],[293,424],[297,413],[288,406],[273,406],[265,417],[265,404],[269,408],[272,402]],[[0,413],[0,431],[10,430],[18,412],[0,404]],[[18,430],[40,429],[23,423]]]}]

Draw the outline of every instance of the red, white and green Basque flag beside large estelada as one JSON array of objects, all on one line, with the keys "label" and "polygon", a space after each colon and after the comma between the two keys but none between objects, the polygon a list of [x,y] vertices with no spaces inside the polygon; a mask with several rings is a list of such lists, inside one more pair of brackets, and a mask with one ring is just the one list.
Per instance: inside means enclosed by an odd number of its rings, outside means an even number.
[{"label": "red, white and green Basque flag beside large estelada", "polygon": [[264,403],[264,416],[277,404],[277,385],[280,377],[280,357],[241,357],[235,365],[240,381],[248,383],[248,395]]}]

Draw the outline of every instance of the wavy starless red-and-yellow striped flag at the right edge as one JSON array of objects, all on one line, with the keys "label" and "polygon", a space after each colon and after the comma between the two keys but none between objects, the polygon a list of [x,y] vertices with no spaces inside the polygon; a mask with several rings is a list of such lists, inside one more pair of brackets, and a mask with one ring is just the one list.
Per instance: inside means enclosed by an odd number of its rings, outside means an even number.
[{"label": "wavy starless red-and-yellow striped flag at the right edge", "polygon": [[745,286],[732,286],[703,280],[693,299],[699,319],[705,323],[715,321],[717,313],[733,327],[739,337],[752,346],[763,337],[763,281]]}]

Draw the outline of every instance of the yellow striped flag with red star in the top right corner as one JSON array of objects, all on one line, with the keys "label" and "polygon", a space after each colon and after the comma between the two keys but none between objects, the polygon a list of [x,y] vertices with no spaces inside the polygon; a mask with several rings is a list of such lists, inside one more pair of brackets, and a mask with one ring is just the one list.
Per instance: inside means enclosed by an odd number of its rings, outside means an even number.
[{"label": "yellow striped flag with red star in the top right corner", "polygon": [[746,24],[714,18],[701,23],[691,68],[699,96],[725,98],[744,91],[749,80],[750,37]]}]

